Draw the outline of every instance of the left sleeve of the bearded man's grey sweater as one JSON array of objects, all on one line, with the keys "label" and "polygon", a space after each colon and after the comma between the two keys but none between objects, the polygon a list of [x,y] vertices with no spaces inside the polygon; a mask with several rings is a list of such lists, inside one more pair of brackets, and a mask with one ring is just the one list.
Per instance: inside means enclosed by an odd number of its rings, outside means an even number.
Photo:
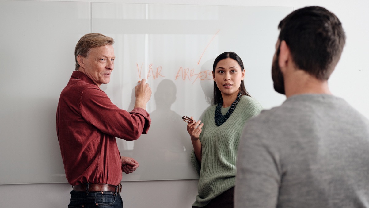
[{"label": "left sleeve of the bearded man's grey sweater", "polygon": [[[277,151],[266,139],[263,121],[252,119],[240,138],[237,156],[235,208],[275,208],[280,186],[280,162]],[[261,136],[263,135],[263,136]],[[265,136],[265,137],[264,137]]]}]

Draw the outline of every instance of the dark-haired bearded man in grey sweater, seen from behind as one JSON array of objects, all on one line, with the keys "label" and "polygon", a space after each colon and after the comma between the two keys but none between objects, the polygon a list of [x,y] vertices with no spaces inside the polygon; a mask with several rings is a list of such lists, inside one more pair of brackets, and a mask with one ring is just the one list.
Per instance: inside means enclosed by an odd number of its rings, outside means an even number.
[{"label": "dark-haired bearded man in grey sweater, seen from behind", "polygon": [[369,120],[328,89],[345,45],[341,22],[305,7],[279,29],[272,78],[287,99],[242,132],[235,207],[369,207]]}]

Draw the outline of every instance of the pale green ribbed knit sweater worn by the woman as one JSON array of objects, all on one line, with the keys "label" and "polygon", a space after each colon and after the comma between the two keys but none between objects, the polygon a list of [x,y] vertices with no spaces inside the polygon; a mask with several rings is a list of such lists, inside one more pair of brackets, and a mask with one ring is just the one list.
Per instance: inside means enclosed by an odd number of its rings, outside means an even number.
[{"label": "pale green ribbed knit sweater worn by the woman", "polygon": [[[262,106],[254,98],[242,96],[232,115],[221,126],[215,125],[215,107],[208,107],[201,116],[204,123],[200,134],[202,162],[198,163],[194,151],[191,162],[199,174],[196,201],[193,205],[203,207],[210,200],[234,187],[236,176],[236,157],[239,137],[246,120],[258,115]],[[230,107],[222,108],[225,115]]]}]

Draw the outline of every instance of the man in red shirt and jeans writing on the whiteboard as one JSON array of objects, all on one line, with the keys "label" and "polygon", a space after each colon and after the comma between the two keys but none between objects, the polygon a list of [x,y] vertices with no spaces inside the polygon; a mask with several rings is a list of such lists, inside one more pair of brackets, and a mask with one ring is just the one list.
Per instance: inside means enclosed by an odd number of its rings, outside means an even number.
[{"label": "man in red shirt and jeans writing on the whiteboard", "polygon": [[115,137],[135,140],[148,132],[151,119],[146,103],[151,88],[142,79],[135,86],[131,112],[115,106],[99,87],[110,81],[114,69],[114,40],[99,33],[84,35],[75,48],[76,71],[61,92],[56,132],[66,178],[73,186],[69,206],[123,207],[122,172],[139,166],[121,157]]}]

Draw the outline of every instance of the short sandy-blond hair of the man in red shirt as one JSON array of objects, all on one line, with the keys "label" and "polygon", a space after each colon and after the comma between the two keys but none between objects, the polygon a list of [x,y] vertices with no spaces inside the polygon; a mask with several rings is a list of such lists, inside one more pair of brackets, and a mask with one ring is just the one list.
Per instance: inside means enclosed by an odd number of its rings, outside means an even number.
[{"label": "short sandy-blond hair of the man in red shirt", "polygon": [[114,40],[111,37],[107,37],[100,33],[89,33],[83,35],[77,42],[74,57],[76,59],[76,70],[79,68],[77,56],[87,57],[91,48],[96,48],[104,45],[113,45]]}]

